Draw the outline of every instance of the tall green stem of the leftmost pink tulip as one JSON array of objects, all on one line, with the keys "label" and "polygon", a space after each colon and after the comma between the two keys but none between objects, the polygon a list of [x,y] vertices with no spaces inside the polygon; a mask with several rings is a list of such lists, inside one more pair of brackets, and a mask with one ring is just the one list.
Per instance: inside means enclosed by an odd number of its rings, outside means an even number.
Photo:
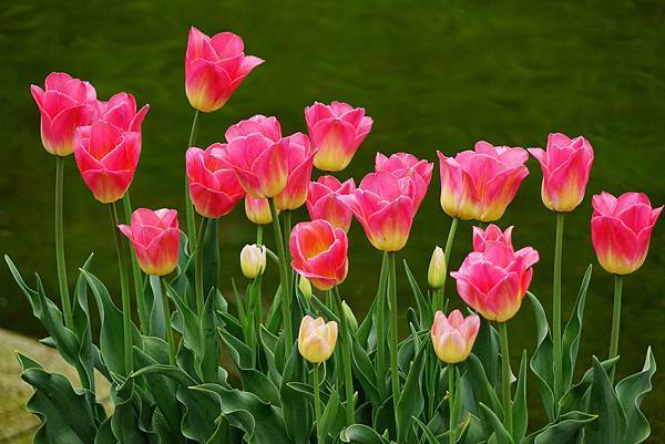
[{"label": "tall green stem of the leftmost pink tulip", "polygon": [[74,328],[72,316],[72,301],[66,283],[66,265],[64,262],[64,229],[62,221],[62,199],[64,185],[64,157],[55,156],[55,265],[58,267],[58,285],[60,286],[60,301],[64,324]]}]

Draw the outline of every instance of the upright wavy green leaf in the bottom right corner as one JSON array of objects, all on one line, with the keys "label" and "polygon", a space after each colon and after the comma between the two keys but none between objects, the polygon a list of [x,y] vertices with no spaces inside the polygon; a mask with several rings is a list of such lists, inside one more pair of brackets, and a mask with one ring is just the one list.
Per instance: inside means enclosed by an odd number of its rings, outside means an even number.
[{"label": "upright wavy green leaf in the bottom right corner", "polygon": [[626,415],[626,432],[622,444],[637,444],[651,435],[651,427],[644,413],[640,410],[646,393],[652,390],[652,378],[656,372],[656,360],[651,347],[646,350],[646,359],[641,372],[632,374],[616,384],[616,395]]}]

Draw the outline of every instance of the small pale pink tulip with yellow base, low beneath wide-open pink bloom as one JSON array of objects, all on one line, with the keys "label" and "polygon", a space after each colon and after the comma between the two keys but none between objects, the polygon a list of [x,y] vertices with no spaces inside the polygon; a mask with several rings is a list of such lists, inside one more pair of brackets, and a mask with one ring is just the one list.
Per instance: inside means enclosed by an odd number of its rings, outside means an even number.
[{"label": "small pale pink tulip with yellow base, low beneath wide-open pink bloom", "polygon": [[454,310],[447,318],[437,311],[430,332],[437,357],[448,364],[462,362],[471,354],[478,330],[480,318],[475,314],[464,319],[460,310]]}]

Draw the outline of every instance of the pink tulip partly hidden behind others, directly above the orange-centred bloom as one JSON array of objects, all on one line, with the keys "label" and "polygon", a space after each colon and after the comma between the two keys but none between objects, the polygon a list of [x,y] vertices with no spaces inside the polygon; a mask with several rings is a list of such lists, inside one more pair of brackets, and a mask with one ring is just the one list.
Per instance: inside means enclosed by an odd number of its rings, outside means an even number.
[{"label": "pink tulip partly hidden behind others, directly above the orange-centred bloom", "polygon": [[352,178],[340,183],[334,176],[320,176],[318,180],[309,183],[307,193],[309,218],[311,220],[326,219],[335,228],[348,231],[354,214],[339,196],[350,195],[354,189],[356,189],[356,183]]}]

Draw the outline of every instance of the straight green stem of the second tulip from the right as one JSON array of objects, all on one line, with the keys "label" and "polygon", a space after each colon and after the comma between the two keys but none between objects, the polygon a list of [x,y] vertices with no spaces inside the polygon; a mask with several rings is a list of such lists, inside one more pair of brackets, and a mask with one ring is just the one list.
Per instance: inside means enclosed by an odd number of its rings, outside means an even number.
[{"label": "straight green stem of the second tulip from the right", "polygon": [[554,281],[552,285],[552,341],[554,343],[554,405],[559,405],[563,391],[563,355],[561,351],[561,259],[563,250],[564,214],[556,213],[556,240],[554,245]]}]

